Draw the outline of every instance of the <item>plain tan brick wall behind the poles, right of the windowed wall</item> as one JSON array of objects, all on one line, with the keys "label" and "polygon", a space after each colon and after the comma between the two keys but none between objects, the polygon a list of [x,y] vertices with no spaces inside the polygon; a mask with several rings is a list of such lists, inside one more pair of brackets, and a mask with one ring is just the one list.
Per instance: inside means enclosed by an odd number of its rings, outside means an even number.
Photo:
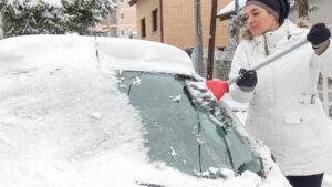
[{"label": "plain tan brick wall behind the poles, right of the windowed wall", "polygon": [[[220,10],[230,0],[218,0]],[[165,43],[176,45],[181,49],[195,46],[195,7],[194,0],[164,0],[164,39]],[[203,46],[208,46],[211,0],[201,0],[201,35]],[[176,21],[175,21],[176,20]],[[216,46],[228,45],[227,22],[216,21]]]}]

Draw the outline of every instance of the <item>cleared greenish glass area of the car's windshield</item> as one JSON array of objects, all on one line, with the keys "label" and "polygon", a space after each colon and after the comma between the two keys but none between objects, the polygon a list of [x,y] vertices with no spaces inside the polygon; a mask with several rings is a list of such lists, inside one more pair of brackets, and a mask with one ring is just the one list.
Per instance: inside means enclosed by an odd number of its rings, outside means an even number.
[{"label": "cleared greenish glass area of the car's windshield", "polygon": [[188,77],[121,72],[118,79],[120,90],[141,112],[151,162],[195,176],[207,172],[211,177],[212,168],[260,173],[260,159],[236,131],[234,120],[221,106],[215,106],[220,113],[214,115],[195,102],[185,83]]}]

